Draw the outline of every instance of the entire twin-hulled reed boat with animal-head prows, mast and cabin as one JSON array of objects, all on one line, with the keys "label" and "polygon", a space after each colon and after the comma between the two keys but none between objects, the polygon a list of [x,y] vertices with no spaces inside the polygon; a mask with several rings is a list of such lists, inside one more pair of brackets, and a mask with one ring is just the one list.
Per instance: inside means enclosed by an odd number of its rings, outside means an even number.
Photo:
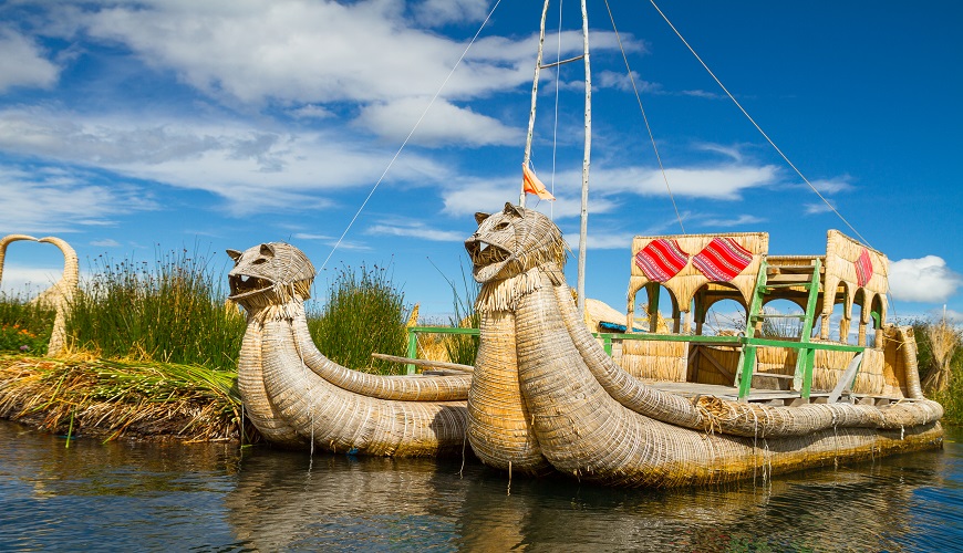
[{"label": "entire twin-hulled reed boat with animal-head prows, mast and cabin", "polygon": [[[829,231],[817,255],[770,255],[765,232],[636,237],[627,255],[629,309],[615,322],[624,332],[588,328],[588,22],[582,0],[583,55],[543,64],[547,10],[548,1],[518,205],[477,213],[465,241],[482,285],[472,374],[375,376],[331,362],[308,334],[303,300],[314,270],[303,253],[281,243],[230,251],[231,299],[248,312],[239,387],[261,432],[292,447],[400,456],[460,451],[467,439],[482,462],[509,474],[648,487],[941,447],[943,409],[920,393],[912,331],[886,322],[888,260],[841,232]],[[586,69],[574,293],[561,232],[525,207],[527,194],[551,197],[529,168],[539,70],[573,61]],[[648,302],[636,317],[639,292]],[[661,298],[672,306],[669,327],[657,324]],[[744,327],[705,332],[710,309],[724,300],[742,306]],[[789,314],[799,320],[796,338],[766,334],[767,323],[786,316],[764,309],[774,300],[801,310]],[[841,338],[830,341],[838,304]]]}]

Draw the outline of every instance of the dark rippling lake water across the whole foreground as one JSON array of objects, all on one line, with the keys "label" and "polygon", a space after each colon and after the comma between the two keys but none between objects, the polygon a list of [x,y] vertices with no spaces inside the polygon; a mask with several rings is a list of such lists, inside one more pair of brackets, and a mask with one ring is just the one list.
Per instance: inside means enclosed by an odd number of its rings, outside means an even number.
[{"label": "dark rippling lake water across the whole foreground", "polygon": [[945,448],[723,488],[526,480],[460,459],[101,444],[0,420],[0,550],[948,551],[963,432]]}]

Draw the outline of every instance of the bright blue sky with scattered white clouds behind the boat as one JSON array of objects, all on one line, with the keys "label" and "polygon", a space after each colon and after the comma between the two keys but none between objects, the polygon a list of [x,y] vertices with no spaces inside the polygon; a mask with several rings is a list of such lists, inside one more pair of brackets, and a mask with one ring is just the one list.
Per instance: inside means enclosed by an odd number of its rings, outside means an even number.
[{"label": "bright blue sky with scattered white clouds behind the boat", "polygon": [[[963,312],[963,6],[657,3],[801,173],[889,255],[891,314],[944,304]],[[342,263],[390,263],[423,314],[449,312],[445,279],[468,269],[462,241],[474,212],[517,201],[520,184],[541,2],[501,0],[442,87],[494,4],[0,3],[0,234],[60,236],[82,269],[102,253],[151,260],[180,248],[226,268],[226,248],[290,241],[319,269],[330,255],[319,283]],[[772,253],[821,253],[830,228],[853,234],[650,2],[610,6],[686,231],[768,231]],[[562,6],[561,46],[558,8],[547,60],[581,49],[578,2]],[[587,295],[624,310],[631,237],[680,227],[604,2],[589,1],[589,19]],[[576,248],[581,64],[545,71],[540,91],[532,161],[558,200],[537,208]],[[18,242],[2,289],[51,282],[60,264],[52,247]],[[574,265],[571,258],[572,285]]]}]

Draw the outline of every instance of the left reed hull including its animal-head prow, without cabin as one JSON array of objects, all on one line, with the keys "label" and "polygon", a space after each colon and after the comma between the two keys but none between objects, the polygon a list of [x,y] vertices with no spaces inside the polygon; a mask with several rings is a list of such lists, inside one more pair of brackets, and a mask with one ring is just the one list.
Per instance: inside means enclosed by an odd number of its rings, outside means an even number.
[{"label": "left reed hull including its animal-head prow, without cabin", "polygon": [[314,270],[307,257],[284,243],[229,253],[231,299],[248,312],[238,387],[267,439],[377,456],[462,451],[470,375],[381,376],[338,365],[308,332],[303,300]]}]

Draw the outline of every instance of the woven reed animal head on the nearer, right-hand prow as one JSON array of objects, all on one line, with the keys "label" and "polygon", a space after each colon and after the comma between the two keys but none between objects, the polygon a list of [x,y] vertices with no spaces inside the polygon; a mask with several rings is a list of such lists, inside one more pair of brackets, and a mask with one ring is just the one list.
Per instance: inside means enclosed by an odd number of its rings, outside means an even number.
[{"label": "woven reed animal head on the nearer, right-hand prow", "polygon": [[475,213],[478,230],[465,240],[475,280],[486,283],[521,274],[529,269],[565,265],[568,244],[545,215],[506,204],[500,213]]}]

